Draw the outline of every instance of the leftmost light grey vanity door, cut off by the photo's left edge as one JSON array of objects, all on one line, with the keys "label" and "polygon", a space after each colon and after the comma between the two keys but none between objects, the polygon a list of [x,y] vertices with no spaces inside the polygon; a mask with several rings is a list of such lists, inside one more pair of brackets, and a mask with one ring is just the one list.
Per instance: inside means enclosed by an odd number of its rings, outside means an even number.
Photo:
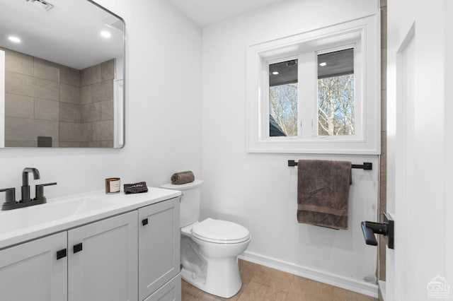
[{"label": "leftmost light grey vanity door, cut off by the photo's left edge", "polygon": [[[67,300],[67,232],[0,251],[0,299]],[[57,259],[59,252],[59,259]]]}]

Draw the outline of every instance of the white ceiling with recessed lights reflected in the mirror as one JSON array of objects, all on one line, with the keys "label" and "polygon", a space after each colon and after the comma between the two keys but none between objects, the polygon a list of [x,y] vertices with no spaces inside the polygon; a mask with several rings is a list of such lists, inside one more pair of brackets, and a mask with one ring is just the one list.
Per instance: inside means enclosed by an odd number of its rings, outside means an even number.
[{"label": "white ceiling with recessed lights reflected in the mirror", "polygon": [[[86,0],[0,0],[0,47],[84,69],[122,57],[122,21]],[[111,37],[101,37],[101,31]],[[8,36],[21,38],[13,43]]]}]

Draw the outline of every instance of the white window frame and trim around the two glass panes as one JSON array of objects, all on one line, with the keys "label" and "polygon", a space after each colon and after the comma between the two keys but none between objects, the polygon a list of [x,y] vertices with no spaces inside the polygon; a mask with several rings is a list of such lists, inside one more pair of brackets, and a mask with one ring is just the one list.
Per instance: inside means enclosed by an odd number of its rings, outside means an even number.
[{"label": "white window frame and trim around the two glass panes", "polygon": [[[381,76],[378,16],[375,14],[248,47],[248,152],[366,155],[380,153]],[[354,47],[355,134],[318,136],[317,55],[350,47]],[[296,57],[299,135],[270,137],[269,64]]]}]

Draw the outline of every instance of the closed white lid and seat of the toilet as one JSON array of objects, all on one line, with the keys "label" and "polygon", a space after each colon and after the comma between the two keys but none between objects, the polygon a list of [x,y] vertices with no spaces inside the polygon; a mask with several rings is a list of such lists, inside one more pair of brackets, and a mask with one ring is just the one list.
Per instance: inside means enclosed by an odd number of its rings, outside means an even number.
[{"label": "closed white lid and seat of the toilet", "polygon": [[207,218],[193,226],[192,235],[206,242],[235,244],[248,240],[250,232],[247,228],[236,223]]}]

